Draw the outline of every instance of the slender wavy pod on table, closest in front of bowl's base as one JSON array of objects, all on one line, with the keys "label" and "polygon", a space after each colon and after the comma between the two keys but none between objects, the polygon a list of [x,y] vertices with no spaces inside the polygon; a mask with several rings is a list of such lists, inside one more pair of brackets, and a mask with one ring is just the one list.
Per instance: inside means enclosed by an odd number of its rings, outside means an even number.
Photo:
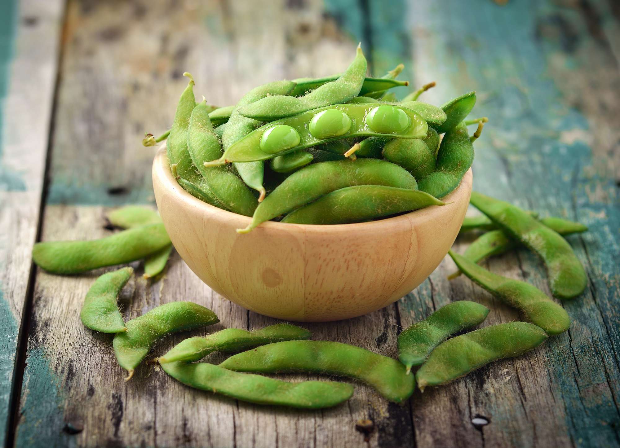
[{"label": "slender wavy pod on table, closest in front of bowl's base", "polygon": [[309,339],[311,335],[312,333],[305,328],[290,323],[276,323],[253,332],[239,328],[226,328],[226,330],[213,333],[205,338],[188,338],[181,341],[164,356],[161,356],[159,362],[194,362],[205,358],[206,355],[214,351],[232,353],[272,342]]}]

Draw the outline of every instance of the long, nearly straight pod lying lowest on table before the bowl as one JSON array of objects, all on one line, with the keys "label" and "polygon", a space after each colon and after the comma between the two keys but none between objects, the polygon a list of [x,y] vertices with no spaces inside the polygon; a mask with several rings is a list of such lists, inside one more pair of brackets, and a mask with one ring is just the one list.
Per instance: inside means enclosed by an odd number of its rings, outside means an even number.
[{"label": "long, nearly straight pod lying lowest on table before the bowl", "polygon": [[353,395],[350,384],[334,381],[291,383],[232,372],[207,362],[167,362],[161,364],[161,367],[169,376],[194,389],[259,405],[322,409],[346,402]]}]

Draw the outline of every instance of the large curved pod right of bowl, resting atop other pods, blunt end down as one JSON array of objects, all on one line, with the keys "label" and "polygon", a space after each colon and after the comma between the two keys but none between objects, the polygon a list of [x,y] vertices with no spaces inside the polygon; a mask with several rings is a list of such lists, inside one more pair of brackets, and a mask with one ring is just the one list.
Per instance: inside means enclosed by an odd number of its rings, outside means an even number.
[{"label": "large curved pod right of bowl, resting atop other pods, blunt end down", "polygon": [[562,235],[505,201],[473,191],[470,203],[503,231],[538,253],[547,266],[553,295],[572,299],[583,292],[588,278],[570,244]]}]

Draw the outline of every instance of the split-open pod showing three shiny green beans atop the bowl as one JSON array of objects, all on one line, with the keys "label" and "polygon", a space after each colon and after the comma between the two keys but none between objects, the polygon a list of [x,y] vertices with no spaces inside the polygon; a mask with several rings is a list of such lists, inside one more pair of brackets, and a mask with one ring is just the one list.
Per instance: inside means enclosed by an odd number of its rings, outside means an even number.
[{"label": "split-open pod showing three shiny green beans atop the bowl", "polygon": [[358,136],[421,138],[427,130],[422,116],[399,105],[336,104],[267,123],[205,166],[267,160],[295,149]]}]

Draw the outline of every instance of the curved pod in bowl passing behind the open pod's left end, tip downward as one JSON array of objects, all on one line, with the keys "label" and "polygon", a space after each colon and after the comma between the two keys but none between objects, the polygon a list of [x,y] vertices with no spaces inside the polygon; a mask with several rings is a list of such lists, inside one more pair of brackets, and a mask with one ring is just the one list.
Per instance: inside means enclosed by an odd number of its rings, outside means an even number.
[{"label": "curved pod in bowl passing behind the open pod's left end, tip downward", "polygon": [[[275,81],[263,84],[263,86],[254,87],[254,89],[247,92],[232,110],[228,122],[222,125],[226,126],[221,134],[224,151],[237,140],[240,140],[262,125],[260,121],[239,115],[238,110],[240,107],[252,104],[270,95],[288,95],[294,87],[295,83],[292,81]],[[216,128],[216,132],[222,126]],[[259,202],[262,201],[265,198],[265,188],[263,187],[265,167],[263,162],[260,160],[245,163],[239,162],[235,163],[234,167],[246,185],[259,192]]]}]

